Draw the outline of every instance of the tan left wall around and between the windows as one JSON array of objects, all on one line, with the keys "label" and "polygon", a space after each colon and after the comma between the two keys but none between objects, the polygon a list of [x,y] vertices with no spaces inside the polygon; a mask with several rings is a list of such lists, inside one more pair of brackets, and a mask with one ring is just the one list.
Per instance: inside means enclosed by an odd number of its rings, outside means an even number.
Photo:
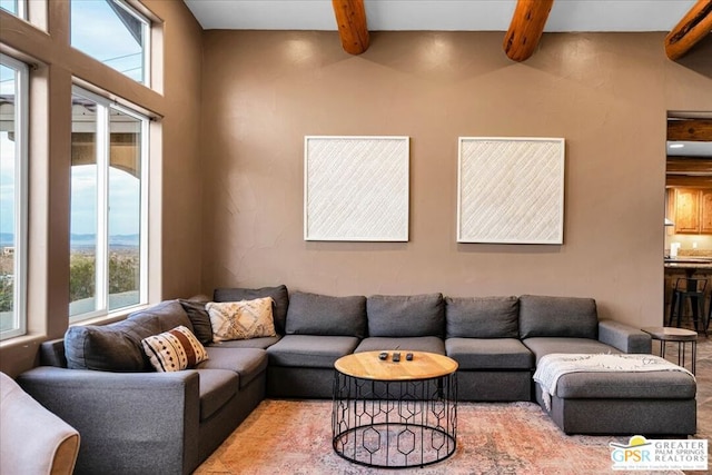
[{"label": "tan left wall around and between the windows", "polygon": [[11,375],[31,367],[39,343],[68,327],[72,77],[162,116],[151,126],[149,299],[189,296],[200,287],[202,31],[181,1],[142,3],[161,26],[152,40],[165,44],[155,58],[156,90],[71,49],[68,1],[49,1],[46,19],[43,4],[30,2],[31,17],[49,24],[47,32],[0,12],[3,52],[39,61],[30,85],[29,335],[0,344],[0,370]]}]

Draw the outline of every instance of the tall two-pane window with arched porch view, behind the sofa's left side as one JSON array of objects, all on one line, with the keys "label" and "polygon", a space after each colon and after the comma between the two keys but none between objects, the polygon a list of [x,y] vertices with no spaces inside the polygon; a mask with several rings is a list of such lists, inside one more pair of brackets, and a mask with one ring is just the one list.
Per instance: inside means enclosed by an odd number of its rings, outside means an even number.
[{"label": "tall two-pane window with arched porch view, behind the sofa's left side", "polygon": [[72,95],[70,321],[147,301],[148,119]]}]

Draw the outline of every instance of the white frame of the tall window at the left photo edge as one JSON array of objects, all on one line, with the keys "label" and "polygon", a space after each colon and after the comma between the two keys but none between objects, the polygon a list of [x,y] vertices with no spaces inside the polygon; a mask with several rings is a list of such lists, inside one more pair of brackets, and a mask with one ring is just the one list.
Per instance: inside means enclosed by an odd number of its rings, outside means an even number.
[{"label": "white frame of the tall window at the left photo edge", "polygon": [[30,67],[16,58],[0,53],[0,62],[14,69],[14,255],[12,286],[13,328],[0,331],[0,342],[27,335],[28,293],[28,209],[29,209],[29,125]]}]

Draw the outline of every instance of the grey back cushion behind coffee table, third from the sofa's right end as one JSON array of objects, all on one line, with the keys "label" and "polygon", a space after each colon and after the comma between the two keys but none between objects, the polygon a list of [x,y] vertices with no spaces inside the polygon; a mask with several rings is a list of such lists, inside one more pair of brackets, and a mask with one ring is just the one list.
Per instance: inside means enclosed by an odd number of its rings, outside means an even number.
[{"label": "grey back cushion behind coffee table, third from the sofa's right end", "polygon": [[374,295],[366,299],[368,336],[445,336],[443,294]]}]

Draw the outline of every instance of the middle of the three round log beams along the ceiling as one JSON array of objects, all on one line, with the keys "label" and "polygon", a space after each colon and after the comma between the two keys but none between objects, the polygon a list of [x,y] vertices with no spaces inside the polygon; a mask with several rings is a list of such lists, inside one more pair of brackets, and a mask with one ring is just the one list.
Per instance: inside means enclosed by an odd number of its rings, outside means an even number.
[{"label": "middle of the three round log beams along the ceiling", "polygon": [[534,53],[553,4],[554,0],[517,0],[503,44],[511,60],[524,61]]}]

